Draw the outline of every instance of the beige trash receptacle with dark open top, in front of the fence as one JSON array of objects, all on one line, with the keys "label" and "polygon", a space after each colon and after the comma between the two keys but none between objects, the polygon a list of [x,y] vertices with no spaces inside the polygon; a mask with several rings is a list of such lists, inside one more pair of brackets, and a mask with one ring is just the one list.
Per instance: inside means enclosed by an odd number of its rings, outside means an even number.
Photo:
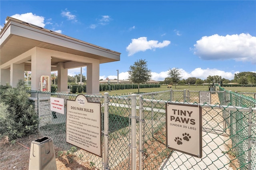
[{"label": "beige trash receptacle with dark open top, in front of the fence", "polygon": [[52,138],[44,136],[31,142],[29,170],[57,170]]}]

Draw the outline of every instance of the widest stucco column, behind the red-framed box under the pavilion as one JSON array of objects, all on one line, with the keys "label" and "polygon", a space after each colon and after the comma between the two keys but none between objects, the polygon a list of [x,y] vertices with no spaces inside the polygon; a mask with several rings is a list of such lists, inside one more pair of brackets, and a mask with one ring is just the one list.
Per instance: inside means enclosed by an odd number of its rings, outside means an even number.
[{"label": "widest stucco column, behind the red-framed box under the pavilion", "polygon": [[35,48],[35,53],[31,55],[31,90],[40,91],[40,77],[48,75],[51,78],[51,55],[46,49]]}]

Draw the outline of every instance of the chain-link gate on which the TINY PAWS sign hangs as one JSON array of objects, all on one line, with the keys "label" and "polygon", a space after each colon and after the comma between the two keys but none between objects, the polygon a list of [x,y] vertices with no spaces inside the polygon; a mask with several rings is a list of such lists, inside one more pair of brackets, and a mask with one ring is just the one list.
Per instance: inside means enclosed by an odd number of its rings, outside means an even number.
[{"label": "chain-link gate on which the TINY PAWS sign hangs", "polygon": [[[141,100],[142,115],[144,115],[142,117],[144,140],[139,146],[142,146],[140,150],[142,169],[256,169],[256,108],[186,103],[200,105],[203,110],[203,156],[196,158],[166,147],[166,102]],[[146,109],[152,104],[155,109],[153,112]],[[227,125],[223,131],[215,130],[219,124],[223,126],[224,122]]]}]

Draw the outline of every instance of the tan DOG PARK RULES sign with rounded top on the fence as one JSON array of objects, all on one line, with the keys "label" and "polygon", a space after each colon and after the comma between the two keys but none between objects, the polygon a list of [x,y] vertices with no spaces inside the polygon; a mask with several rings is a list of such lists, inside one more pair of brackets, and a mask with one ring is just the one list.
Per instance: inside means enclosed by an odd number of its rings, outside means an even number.
[{"label": "tan DOG PARK RULES sign with rounded top on the fence", "polygon": [[67,100],[66,142],[102,157],[100,103],[84,95]]}]

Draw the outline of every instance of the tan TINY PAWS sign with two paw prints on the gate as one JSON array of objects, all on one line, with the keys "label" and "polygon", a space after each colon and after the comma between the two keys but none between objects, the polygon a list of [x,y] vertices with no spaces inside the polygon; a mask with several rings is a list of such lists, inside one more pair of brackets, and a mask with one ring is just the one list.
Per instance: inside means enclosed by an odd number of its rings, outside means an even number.
[{"label": "tan TINY PAWS sign with two paw prints on the gate", "polygon": [[166,145],[172,150],[202,158],[202,107],[166,104]]}]

